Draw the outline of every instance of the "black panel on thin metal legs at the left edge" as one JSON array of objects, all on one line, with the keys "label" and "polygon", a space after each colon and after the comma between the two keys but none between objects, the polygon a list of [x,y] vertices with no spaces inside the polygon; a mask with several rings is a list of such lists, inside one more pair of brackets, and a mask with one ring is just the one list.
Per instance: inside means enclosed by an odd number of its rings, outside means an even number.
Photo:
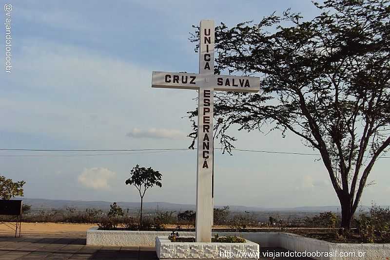
[{"label": "black panel on thin metal legs at the left edge", "polygon": [[[18,228],[20,237],[22,214],[21,205],[21,200],[0,200],[0,215],[12,216],[7,220],[0,220],[0,224],[4,224],[11,229],[15,228],[15,237],[17,237]],[[16,222],[16,224],[12,222]]]}]

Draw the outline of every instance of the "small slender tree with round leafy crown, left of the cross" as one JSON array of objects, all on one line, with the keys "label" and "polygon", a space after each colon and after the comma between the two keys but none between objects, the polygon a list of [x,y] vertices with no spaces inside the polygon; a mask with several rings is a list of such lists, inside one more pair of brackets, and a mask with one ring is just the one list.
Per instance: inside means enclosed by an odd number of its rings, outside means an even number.
[{"label": "small slender tree with round leafy crown, left of the cross", "polygon": [[150,187],[155,185],[161,187],[161,179],[161,173],[158,170],[152,169],[152,167],[145,168],[136,165],[136,167],[130,170],[130,178],[126,180],[126,185],[134,185],[139,192],[139,196],[141,197],[141,210],[139,217],[140,227],[142,227],[142,201],[143,197],[145,196],[145,192]]}]

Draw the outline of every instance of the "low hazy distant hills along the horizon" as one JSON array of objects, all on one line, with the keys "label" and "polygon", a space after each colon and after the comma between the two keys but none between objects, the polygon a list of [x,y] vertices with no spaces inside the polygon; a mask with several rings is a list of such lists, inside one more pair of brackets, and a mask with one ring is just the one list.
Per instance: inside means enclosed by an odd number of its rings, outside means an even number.
[{"label": "low hazy distant hills along the horizon", "polygon": [[[78,210],[85,210],[86,208],[96,208],[107,210],[110,208],[111,202],[106,201],[71,201],[71,200],[48,200],[48,199],[30,199],[22,198],[24,204],[30,204],[33,209],[61,209],[67,206],[76,207]],[[139,202],[117,202],[123,209],[137,209]],[[340,206],[303,206],[303,207],[254,207],[229,205],[231,211],[292,211],[292,212],[324,212],[334,211],[341,212]],[[216,205],[215,207],[222,207]],[[385,206],[388,207],[388,206]],[[176,204],[168,202],[144,202],[143,208],[146,210],[195,210],[194,204]],[[363,210],[367,210],[369,206],[363,206]]]}]

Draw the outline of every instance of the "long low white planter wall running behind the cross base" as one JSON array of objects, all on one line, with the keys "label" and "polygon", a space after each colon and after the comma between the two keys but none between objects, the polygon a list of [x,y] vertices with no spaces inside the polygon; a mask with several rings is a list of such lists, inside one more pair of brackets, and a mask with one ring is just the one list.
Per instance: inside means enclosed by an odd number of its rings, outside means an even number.
[{"label": "long low white planter wall running behind the cross base", "polygon": [[[352,244],[331,243],[317,239],[305,238],[291,233],[281,232],[213,232],[222,236],[240,235],[246,240],[253,241],[261,247],[283,247],[296,252],[344,252],[355,256],[327,257],[312,256],[316,260],[386,260],[390,257],[390,243],[386,244]],[[118,231],[98,230],[93,227],[87,230],[88,245],[120,245],[120,246],[156,246],[156,237],[168,237],[171,231]],[[195,232],[179,232],[180,237],[194,237]],[[359,252],[365,253],[359,257]]]}]

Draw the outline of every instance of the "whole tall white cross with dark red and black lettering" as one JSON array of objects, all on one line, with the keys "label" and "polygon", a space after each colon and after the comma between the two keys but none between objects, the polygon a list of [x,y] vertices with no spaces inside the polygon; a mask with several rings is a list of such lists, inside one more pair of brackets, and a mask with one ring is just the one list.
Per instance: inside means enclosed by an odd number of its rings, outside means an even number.
[{"label": "whole tall white cross with dark red and black lettering", "polygon": [[201,20],[199,74],[152,73],[152,88],[199,90],[196,175],[196,242],[211,242],[213,218],[213,113],[214,90],[258,92],[260,78],[214,74],[214,21]]}]

